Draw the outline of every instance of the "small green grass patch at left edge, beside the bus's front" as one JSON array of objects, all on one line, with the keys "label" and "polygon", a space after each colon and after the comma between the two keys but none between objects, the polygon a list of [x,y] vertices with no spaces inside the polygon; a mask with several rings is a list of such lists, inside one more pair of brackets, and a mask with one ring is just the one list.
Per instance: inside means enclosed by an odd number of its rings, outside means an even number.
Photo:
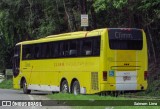
[{"label": "small green grass patch at left edge, beside the bus's front", "polygon": [[13,88],[13,80],[5,79],[0,83],[0,88],[2,89],[12,89]]}]

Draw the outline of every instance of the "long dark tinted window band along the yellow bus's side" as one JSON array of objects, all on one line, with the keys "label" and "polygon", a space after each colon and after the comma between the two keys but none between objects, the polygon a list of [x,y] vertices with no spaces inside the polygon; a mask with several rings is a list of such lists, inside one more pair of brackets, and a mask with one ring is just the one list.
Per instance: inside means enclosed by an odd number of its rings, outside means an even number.
[{"label": "long dark tinted window band along the yellow bus's side", "polygon": [[23,60],[100,55],[100,37],[23,45]]}]

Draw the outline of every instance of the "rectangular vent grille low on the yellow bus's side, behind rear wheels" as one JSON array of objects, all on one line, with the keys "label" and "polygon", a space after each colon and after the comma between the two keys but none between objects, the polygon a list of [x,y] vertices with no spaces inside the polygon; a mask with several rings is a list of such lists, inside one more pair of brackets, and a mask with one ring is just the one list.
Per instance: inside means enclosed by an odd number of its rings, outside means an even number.
[{"label": "rectangular vent grille low on the yellow bus's side, behind rear wheels", "polygon": [[98,72],[91,72],[91,85],[93,90],[98,90]]}]

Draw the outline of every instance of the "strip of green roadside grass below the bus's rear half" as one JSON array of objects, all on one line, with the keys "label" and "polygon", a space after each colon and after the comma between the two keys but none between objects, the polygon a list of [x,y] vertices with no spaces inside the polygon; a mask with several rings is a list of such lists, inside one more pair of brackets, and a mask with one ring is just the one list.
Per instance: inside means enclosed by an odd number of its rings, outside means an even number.
[{"label": "strip of green roadside grass below the bus's rear half", "polygon": [[[139,98],[124,98],[99,95],[75,96],[73,94],[63,93],[51,94],[48,95],[48,97],[53,100],[64,100],[60,101],[60,103],[71,105],[71,108],[73,109],[159,109],[158,106],[134,106],[133,104],[135,101],[144,100]],[[117,103],[122,106],[115,106]],[[125,106],[127,104],[131,104],[131,106]]]}]

